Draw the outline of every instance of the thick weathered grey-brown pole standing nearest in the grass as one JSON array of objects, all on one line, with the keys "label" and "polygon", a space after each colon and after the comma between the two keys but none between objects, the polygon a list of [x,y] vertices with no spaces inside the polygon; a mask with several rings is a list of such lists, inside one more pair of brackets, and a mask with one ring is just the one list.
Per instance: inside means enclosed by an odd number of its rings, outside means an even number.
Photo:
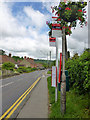
[{"label": "thick weathered grey-brown pole standing nearest in the grass", "polygon": [[66,112],[66,76],[65,76],[65,28],[62,29],[62,82],[61,82],[61,113]]}]

